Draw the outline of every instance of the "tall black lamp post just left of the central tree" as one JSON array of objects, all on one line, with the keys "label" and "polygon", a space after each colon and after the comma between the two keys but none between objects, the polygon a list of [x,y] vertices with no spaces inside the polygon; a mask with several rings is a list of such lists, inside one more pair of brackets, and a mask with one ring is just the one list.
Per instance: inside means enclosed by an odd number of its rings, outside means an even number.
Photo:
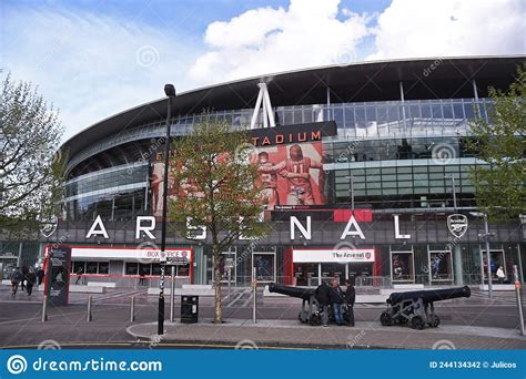
[{"label": "tall black lamp post just left of the central tree", "polygon": [[164,144],[164,178],[162,193],[162,223],[161,223],[161,277],[159,278],[159,317],[158,335],[164,334],[164,259],[166,256],[166,213],[168,213],[168,174],[170,164],[170,127],[172,125],[172,100],[175,98],[175,88],[173,84],[164,85],[164,93],[168,96],[166,112],[166,141]]}]

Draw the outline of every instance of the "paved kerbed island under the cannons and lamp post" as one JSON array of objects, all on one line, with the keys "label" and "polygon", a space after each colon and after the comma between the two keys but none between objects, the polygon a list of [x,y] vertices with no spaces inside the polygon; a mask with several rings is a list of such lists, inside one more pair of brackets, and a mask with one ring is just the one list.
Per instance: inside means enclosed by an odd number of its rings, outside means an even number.
[{"label": "paved kerbed island under the cannons and lamp post", "polygon": [[135,324],[127,329],[139,340],[154,344],[196,344],[236,348],[304,347],[332,349],[526,349],[526,337],[516,329],[447,325],[414,330],[404,326],[382,327],[356,322],[354,328],[311,327],[293,320],[229,319],[216,326],[211,319],[199,324],[165,324],[156,336],[156,322]]}]

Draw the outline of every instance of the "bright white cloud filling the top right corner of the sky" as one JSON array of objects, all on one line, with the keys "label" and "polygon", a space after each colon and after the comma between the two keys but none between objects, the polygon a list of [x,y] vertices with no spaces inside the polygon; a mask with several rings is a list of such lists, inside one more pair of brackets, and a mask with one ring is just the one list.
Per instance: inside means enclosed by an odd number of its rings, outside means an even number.
[{"label": "bright white cloud filling the top right corner of the sky", "polygon": [[367,60],[525,53],[523,0],[393,0]]}]

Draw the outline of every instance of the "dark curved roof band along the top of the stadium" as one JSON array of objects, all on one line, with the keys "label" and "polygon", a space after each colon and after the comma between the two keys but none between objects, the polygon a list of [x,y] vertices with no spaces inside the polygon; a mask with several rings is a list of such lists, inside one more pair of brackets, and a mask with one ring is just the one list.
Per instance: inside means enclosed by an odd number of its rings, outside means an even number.
[{"label": "dark curved roof band along the top of the stadium", "polygon": [[[489,85],[507,88],[514,80],[516,66],[525,61],[526,55],[436,58],[289,71],[183,92],[175,98],[172,114],[200,113],[203,109],[253,107],[257,98],[256,84],[262,81],[267,84],[273,106],[325,104],[327,88],[332,103],[399,100],[401,81],[404,82],[405,100],[473,98],[473,79],[479,96],[486,96]],[[162,89],[159,92],[162,93]],[[165,117],[166,102],[162,98],[87,127],[68,140],[63,147],[73,156],[123,129]]]}]

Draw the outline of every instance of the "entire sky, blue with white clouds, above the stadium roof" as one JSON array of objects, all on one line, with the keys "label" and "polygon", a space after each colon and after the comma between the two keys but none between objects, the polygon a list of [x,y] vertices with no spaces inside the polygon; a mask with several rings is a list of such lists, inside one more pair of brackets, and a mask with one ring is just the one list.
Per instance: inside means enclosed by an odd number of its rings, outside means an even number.
[{"label": "entire sky, blue with white clouds, above the stadium roof", "polygon": [[[60,109],[64,139],[178,91],[323,64],[525,53],[523,0],[12,1],[1,68]],[[255,91],[255,89],[254,89]]]}]

